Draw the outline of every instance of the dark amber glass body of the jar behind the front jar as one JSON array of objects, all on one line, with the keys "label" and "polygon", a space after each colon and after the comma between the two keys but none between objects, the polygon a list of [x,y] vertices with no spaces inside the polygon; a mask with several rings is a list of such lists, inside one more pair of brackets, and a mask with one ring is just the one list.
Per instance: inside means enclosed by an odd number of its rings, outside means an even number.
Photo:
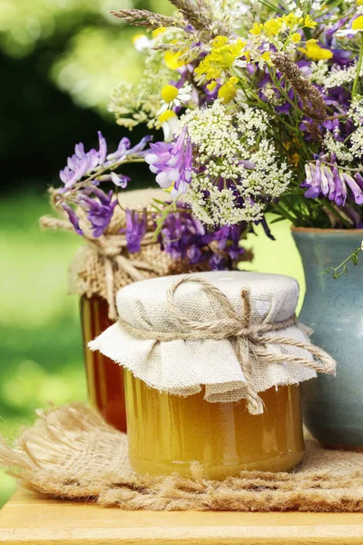
[{"label": "dark amber glass body of the jar behind the front jar", "polygon": [[101,412],[105,421],[119,431],[126,431],[126,408],[123,368],[103,356],[92,352],[87,344],[112,325],[108,318],[108,303],[96,295],[81,297],[81,323],[83,332],[84,363],[88,397],[93,407]]}]

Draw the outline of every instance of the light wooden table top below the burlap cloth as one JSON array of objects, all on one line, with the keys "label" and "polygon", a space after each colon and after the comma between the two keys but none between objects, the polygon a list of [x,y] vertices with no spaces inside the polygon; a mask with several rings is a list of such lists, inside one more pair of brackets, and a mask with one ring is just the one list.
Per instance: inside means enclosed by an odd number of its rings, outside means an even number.
[{"label": "light wooden table top below the burlap cloth", "polygon": [[363,514],[123,511],[18,490],[4,545],[363,545]]}]

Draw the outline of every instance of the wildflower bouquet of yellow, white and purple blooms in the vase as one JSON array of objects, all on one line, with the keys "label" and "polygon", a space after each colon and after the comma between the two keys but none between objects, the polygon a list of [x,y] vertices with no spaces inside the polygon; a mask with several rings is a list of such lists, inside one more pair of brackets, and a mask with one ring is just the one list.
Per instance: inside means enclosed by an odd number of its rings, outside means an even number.
[{"label": "wildflower bouquet of yellow, white and purple blooms in the vase", "polygon": [[108,156],[101,140],[97,159],[76,149],[58,193],[75,229],[72,203],[102,232],[114,204],[99,184],[124,187],[115,171],[130,161],[171,190],[159,235],[180,201],[236,252],[246,226],[269,233],[269,211],[301,227],[363,228],[362,0],[171,2],[172,16],[113,13],[152,34],[135,35],[144,76],[114,90],[110,109],[118,124],[164,138],[135,148],[123,139]]}]

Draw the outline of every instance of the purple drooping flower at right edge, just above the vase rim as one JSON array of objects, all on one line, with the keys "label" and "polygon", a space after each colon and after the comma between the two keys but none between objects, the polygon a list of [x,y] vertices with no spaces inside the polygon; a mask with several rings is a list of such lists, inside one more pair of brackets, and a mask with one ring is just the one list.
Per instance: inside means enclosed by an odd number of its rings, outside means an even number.
[{"label": "purple drooping flower at right edge, just above the vase rim", "polygon": [[[363,204],[363,178],[359,173],[352,176],[345,170],[339,169],[336,157],[331,156],[329,164],[322,163],[329,157],[315,155],[315,163],[305,165],[306,180],[301,187],[308,188],[305,197],[317,199],[328,197],[338,206],[344,206],[348,197],[356,204]],[[350,193],[348,192],[350,190]]]}]

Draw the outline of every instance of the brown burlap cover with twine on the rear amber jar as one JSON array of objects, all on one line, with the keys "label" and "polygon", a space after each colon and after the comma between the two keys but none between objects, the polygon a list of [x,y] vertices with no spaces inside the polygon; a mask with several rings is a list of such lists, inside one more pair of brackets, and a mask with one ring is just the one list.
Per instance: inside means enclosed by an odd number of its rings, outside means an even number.
[{"label": "brown burlap cover with twine on the rear amber jar", "polygon": [[[147,278],[178,274],[181,272],[205,271],[208,261],[191,266],[188,260],[175,260],[162,252],[160,244],[153,240],[154,223],[152,214],[147,233],[142,240],[139,253],[129,253],[123,229],[126,227],[126,209],[142,213],[155,212],[152,209],[154,199],[165,202],[170,200],[169,193],[157,189],[143,189],[123,192],[118,197],[121,206],[116,206],[111,223],[103,236],[95,238],[87,223],[83,210],[77,210],[80,225],[84,233],[83,244],[74,255],[69,268],[69,290],[71,293],[87,297],[98,295],[108,302],[109,317],[116,320],[114,304],[115,294],[131,282]],[[57,210],[59,212],[59,210]],[[61,229],[72,232],[72,224],[64,219],[44,216],[40,224],[47,229]]]}]

